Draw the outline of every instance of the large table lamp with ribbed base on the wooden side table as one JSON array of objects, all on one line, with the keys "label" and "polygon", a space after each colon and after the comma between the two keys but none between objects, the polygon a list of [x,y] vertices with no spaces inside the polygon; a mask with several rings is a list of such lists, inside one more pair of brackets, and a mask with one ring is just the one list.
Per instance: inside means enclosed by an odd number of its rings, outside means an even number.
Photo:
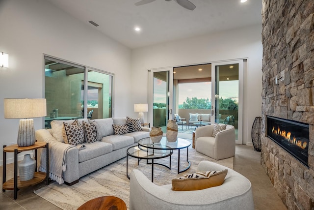
[{"label": "large table lamp with ribbed base on the wooden side table", "polygon": [[4,118],[21,119],[18,133],[18,146],[35,144],[34,121],[47,115],[46,98],[4,98]]}]

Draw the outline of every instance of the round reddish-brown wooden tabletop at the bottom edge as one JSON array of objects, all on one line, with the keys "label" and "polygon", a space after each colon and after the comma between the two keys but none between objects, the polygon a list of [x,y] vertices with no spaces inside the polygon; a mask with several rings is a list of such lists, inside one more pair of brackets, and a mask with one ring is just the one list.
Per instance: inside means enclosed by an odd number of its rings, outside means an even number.
[{"label": "round reddish-brown wooden tabletop at the bottom edge", "polygon": [[127,206],[121,198],[103,196],[87,201],[78,210],[127,210]]}]

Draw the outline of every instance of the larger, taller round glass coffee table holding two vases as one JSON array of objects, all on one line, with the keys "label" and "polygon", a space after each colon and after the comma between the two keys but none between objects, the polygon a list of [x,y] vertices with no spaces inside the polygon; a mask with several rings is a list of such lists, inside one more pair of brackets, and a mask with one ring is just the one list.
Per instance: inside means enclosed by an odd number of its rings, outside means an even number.
[{"label": "larger, taller round glass coffee table holding two vases", "polygon": [[[153,150],[169,150],[172,154],[173,150],[178,150],[178,174],[186,171],[190,168],[191,163],[188,160],[188,147],[191,143],[185,139],[178,138],[176,142],[168,142],[166,137],[162,137],[161,141],[158,143],[153,143],[151,138],[145,138],[138,141],[138,145],[140,147],[153,149]],[[188,166],[180,171],[180,150],[186,148],[186,161],[188,162]],[[169,169],[171,169],[171,156]]]}]

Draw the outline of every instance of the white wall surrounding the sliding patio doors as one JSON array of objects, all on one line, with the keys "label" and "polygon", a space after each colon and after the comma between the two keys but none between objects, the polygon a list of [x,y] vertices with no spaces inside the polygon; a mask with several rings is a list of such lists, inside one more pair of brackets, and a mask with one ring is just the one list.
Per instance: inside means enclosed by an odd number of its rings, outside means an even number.
[{"label": "white wall surrounding the sliding patio doors", "polygon": [[147,102],[148,69],[247,58],[242,143],[251,145],[252,124],[262,106],[261,33],[258,25],[132,50],[132,102]]}]

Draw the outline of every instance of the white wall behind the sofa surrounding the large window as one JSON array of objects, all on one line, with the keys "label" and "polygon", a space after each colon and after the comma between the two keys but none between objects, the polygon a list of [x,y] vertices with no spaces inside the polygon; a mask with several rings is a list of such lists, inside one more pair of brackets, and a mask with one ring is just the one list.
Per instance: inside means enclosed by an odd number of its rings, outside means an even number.
[{"label": "white wall behind the sofa surrounding the large window", "polygon": [[[131,50],[42,0],[0,0],[0,165],[3,145],[16,144],[19,120],[4,119],[3,98],[44,96],[43,54],[115,74],[114,116],[132,113]],[[43,119],[34,119],[35,129]],[[24,153],[21,154],[23,156]],[[12,162],[12,153],[7,154]]]}]

